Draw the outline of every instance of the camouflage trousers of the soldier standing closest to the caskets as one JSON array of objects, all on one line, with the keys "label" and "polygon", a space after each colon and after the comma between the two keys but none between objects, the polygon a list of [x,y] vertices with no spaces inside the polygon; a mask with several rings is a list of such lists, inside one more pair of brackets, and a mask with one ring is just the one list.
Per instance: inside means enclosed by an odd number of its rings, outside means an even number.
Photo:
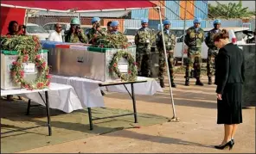
[{"label": "camouflage trousers of the soldier standing closest to the caskets", "polygon": [[151,54],[136,53],[136,63],[138,64],[138,76],[150,77],[151,73]]}]

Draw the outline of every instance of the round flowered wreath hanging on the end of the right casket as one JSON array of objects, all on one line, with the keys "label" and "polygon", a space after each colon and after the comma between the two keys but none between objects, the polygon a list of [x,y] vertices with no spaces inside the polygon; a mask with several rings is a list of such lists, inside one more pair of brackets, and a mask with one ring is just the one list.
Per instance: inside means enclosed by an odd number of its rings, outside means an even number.
[{"label": "round flowered wreath hanging on the end of the right casket", "polygon": [[[118,61],[121,59],[127,59],[128,72],[121,73],[118,69]],[[136,81],[138,71],[135,59],[131,56],[131,53],[125,51],[118,51],[113,55],[112,61],[109,65],[110,75],[120,78],[122,81]]]}]

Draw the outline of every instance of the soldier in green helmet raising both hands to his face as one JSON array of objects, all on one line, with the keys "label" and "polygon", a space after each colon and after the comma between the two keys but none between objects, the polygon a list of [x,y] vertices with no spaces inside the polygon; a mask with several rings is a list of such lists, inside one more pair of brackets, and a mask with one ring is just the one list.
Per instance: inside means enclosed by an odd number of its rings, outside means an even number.
[{"label": "soldier in green helmet raising both hands to his face", "polygon": [[70,22],[70,29],[67,31],[65,42],[70,43],[87,43],[87,37],[80,28],[80,21],[78,18],[73,18]]}]

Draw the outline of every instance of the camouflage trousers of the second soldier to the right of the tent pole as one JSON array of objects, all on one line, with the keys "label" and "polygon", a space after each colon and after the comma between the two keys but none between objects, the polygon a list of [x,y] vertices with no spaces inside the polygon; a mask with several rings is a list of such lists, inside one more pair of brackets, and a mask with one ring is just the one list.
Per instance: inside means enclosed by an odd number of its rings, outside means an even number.
[{"label": "camouflage trousers of the second soldier to the right of the tent pole", "polygon": [[[200,78],[201,67],[202,67],[201,50],[202,50],[202,48],[189,48],[185,78],[190,77],[191,71],[194,72],[195,78]],[[194,70],[193,70],[193,68],[194,68]]]}]

